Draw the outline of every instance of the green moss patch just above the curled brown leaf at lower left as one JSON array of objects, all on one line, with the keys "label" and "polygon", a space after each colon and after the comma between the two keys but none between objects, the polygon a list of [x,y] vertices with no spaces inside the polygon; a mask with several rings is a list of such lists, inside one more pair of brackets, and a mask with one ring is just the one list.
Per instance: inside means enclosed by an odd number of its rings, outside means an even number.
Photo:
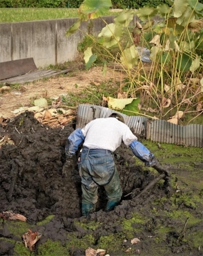
[{"label": "green moss patch just above the curled brown leaf at lower left", "polygon": [[8,225],[8,229],[10,233],[14,236],[21,238],[21,236],[34,227],[29,225],[27,222],[24,221],[5,221],[6,225]]}]

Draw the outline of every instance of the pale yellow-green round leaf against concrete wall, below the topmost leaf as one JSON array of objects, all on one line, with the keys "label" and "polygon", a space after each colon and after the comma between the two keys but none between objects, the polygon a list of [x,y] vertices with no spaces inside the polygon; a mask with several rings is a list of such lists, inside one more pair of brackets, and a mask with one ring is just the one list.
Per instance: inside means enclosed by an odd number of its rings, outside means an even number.
[{"label": "pale yellow-green round leaf against concrete wall, below the topmost leaf", "polygon": [[102,28],[99,37],[103,37],[103,46],[110,48],[117,44],[123,33],[124,29],[120,24],[110,23],[106,27]]}]

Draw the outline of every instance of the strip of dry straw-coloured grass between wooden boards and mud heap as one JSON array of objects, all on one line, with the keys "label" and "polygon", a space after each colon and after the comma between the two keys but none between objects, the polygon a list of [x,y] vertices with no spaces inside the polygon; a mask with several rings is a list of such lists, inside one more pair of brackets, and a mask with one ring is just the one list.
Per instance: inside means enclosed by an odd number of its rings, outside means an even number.
[{"label": "strip of dry straw-coloured grass between wooden boards and mud heap", "polygon": [[[123,77],[123,75],[122,75]],[[106,76],[102,75],[101,67],[93,67],[89,71],[75,71],[72,77],[53,77],[46,81],[35,81],[21,85],[19,90],[12,90],[0,95],[0,113],[6,117],[13,117],[13,111],[23,106],[31,106],[31,101],[38,98],[58,98],[68,92],[79,92],[91,84],[121,80],[121,73],[108,70]]]}]

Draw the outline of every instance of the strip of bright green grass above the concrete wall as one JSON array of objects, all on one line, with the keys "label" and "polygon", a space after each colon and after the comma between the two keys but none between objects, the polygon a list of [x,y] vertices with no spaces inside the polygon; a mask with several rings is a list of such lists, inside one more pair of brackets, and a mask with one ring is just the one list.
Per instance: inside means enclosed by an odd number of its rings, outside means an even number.
[{"label": "strip of bright green grass above the concrete wall", "polygon": [[[109,10],[107,15],[116,15]],[[32,20],[52,20],[78,17],[78,9],[71,8],[0,8],[0,23]]]}]

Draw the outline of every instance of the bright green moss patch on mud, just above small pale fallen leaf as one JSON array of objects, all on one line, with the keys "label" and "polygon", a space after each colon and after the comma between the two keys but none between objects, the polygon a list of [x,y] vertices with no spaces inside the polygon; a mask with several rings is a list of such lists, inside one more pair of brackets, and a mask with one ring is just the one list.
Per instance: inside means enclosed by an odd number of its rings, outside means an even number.
[{"label": "bright green moss patch on mud, just above small pale fallen leaf", "polygon": [[139,214],[132,214],[132,218],[131,219],[122,219],[121,221],[121,225],[122,228],[126,231],[139,231],[142,230],[142,226],[144,224],[144,222],[146,221],[145,219],[143,219],[143,217],[141,217]]}]

